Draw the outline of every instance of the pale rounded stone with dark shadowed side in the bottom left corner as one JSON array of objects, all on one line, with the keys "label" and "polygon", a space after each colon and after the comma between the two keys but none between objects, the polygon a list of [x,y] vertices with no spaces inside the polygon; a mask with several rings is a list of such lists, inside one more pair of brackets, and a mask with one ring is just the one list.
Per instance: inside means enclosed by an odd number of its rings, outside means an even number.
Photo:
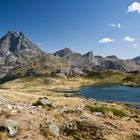
[{"label": "pale rounded stone with dark shadowed side in the bottom left corner", "polygon": [[18,132],[18,123],[13,120],[6,120],[0,125],[0,131],[6,131],[9,137],[14,137]]}]

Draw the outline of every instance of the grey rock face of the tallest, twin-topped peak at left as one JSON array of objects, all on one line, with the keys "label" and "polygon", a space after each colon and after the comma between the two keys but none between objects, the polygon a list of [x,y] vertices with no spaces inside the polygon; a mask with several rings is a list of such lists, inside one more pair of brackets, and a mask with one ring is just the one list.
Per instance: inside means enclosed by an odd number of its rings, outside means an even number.
[{"label": "grey rock face of the tallest, twin-topped peak at left", "polygon": [[42,53],[23,33],[9,31],[0,39],[0,78],[10,69]]}]

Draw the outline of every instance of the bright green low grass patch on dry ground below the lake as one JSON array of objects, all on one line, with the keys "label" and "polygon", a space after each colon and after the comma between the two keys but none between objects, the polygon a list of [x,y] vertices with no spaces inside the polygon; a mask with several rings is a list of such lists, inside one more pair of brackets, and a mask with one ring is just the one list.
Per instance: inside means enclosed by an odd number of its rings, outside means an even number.
[{"label": "bright green low grass patch on dry ground below the lake", "polygon": [[86,106],[85,108],[92,112],[101,112],[104,115],[106,115],[107,113],[113,113],[113,115],[117,117],[127,116],[127,114],[124,111],[110,107]]}]

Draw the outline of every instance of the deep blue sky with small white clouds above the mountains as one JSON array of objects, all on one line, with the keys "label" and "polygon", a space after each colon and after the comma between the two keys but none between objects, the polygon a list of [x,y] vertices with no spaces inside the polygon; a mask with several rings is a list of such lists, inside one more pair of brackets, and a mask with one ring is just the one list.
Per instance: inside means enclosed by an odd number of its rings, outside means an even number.
[{"label": "deep blue sky with small white clouds above the mountains", "polygon": [[0,36],[8,30],[46,52],[69,47],[133,58],[140,55],[140,0],[0,0]]}]

